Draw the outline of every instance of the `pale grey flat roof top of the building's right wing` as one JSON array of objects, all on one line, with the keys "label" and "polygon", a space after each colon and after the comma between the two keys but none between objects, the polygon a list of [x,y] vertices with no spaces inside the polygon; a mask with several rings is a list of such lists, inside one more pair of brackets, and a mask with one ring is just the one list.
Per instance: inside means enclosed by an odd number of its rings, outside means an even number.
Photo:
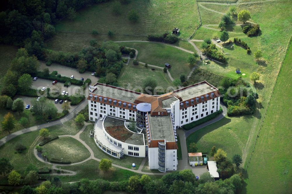
[{"label": "pale grey flat roof top of the building's right wing", "polygon": [[183,88],[181,90],[173,92],[180,96],[184,101],[216,90],[217,90],[216,88],[207,84],[207,82],[202,82],[197,85],[186,87],[185,89]]}]

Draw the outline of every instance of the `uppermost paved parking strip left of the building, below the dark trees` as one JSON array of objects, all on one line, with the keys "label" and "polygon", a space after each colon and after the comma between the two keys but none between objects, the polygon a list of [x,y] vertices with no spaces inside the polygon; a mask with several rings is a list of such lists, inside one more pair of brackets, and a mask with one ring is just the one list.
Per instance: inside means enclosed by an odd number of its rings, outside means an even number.
[{"label": "uppermost paved parking strip left of the building, below the dark trees", "polygon": [[99,79],[99,77],[95,77],[91,75],[92,72],[89,72],[89,71],[85,71],[84,73],[79,73],[79,70],[76,68],[59,65],[56,63],[52,63],[50,66],[46,66],[45,61],[40,61],[40,64],[41,64],[41,68],[40,68],[41,70],[43,70],[44,68],[48,68],[50,72],[58,71],[58,73],[60,73],[62,76],[71,77],[71,75],[74,75],[74,78],[77,80],[80,80],[81,77],[83,77],[84,80],[89,78],[91,79],[91,84],[95,84]]}]

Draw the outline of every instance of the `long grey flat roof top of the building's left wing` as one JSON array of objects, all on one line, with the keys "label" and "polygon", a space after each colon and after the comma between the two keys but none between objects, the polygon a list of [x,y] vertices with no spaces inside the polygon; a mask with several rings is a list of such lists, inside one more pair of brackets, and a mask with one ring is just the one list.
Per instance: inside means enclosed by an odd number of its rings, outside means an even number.
[{"label": "long grey flat roof top of the building's left wing", "polygon": [[108,98],[115,98],[119,100],[123,100],[126,102],[134,103],[136,98],[140,94],[136,94],[133,91],[127,91],[122,88],[115,88],[111,87],[109,85],[100,85],[100,84],[95,84],[96,89],[92,92],[92,94],[96,94],[99,96],[105,96]]}]

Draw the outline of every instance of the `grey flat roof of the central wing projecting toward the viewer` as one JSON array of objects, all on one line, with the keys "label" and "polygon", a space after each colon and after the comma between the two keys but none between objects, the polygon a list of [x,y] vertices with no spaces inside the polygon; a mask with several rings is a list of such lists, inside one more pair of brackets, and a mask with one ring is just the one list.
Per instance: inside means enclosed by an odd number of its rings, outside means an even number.
[{"label": "grey flat roof of the central wing projecting toward the viewer", "polygon": [[170,114],[168,116],[151,117],[148,121],[150,124],[151,140],[165,140],[166,142],[174,142],[173,126]]}]

